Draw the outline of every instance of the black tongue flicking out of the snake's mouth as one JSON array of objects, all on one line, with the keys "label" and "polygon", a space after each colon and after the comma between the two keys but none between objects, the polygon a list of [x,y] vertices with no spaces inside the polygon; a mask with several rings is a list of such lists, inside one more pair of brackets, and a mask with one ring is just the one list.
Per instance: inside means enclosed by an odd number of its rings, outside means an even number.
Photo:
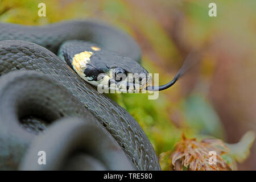
[{"label": "black tongue flicking out of the snake's mouth", "polygon": [[195,50],[191,50],[187,56],[187,58],[185,59],[184,63],[182,64],[179,72],[177,72],[177,74],[175,75],[175,77],[168,82],[165,85],[161,85],[161,86],[147,86],[146,90],[150,90],[150,91],[160,91],[160,90],[165,90],[170,88],[172,85],[175,84],[175,82],[179,79],[179,77],[181,77],[182,75],[184,75],[185,72],[187,72],[190,68],[193,67],[193,65],[195,65],[196,63],[198,63],[200,60],[199,55],[196,53]]}]

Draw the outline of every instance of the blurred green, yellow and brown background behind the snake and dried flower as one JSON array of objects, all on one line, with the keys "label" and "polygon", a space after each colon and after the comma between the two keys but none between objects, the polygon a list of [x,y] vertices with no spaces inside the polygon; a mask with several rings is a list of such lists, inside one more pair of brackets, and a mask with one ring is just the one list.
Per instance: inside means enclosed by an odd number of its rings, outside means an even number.
[{"label": "blurred green, yellow and brown background behind the snake and dried flower", "polygon": [[[46,4],[46,17],[38,16],[40,2]],[[208,15],[211,2],[217,17]],[[201,62],[157,100],[109,94],[139,122],[158,156],[174,150],[181,133],[237,143],[256,131],[255,0],[0,0],[1,22],[45,25],[85,18],[133,36],[144,68],[159,73],[160,85],[175,76],[192,48],[199,49]],[[255,142],[238,169],[256,170]]]}]

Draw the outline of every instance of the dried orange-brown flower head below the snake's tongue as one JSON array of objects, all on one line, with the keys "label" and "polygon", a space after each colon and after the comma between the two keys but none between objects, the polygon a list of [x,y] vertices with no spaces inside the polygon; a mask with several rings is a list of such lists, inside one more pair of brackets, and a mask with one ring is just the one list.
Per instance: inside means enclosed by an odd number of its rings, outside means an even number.
[{"label": "dried orange-brown flower head below the snake's tongue", "polygon": [[175,146],[171,161],[175,170],[187,168],[192,171],[223,171],[231,170],[221,155],[229,152],[220,139],[204,139],[197,142],[196,138],[188,139],[182,134],[181,141]]}]

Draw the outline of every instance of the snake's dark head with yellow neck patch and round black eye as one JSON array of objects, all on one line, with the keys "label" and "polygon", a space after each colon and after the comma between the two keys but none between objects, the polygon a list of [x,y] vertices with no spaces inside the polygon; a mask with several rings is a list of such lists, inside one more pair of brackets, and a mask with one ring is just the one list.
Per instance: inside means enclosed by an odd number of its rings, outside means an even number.
[{"label": "snake's dark head with yellow neck patch and round black eye", "polygon": [[141,92],[150,80],[147,70],[137,61],[93,43],[68,41],[59,53],[82,79],[103,89]]}]

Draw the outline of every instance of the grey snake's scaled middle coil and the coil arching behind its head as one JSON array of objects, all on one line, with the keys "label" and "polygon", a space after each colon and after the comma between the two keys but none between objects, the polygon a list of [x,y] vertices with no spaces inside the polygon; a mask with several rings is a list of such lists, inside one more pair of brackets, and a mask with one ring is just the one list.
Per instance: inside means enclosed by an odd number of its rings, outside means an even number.
[{"label": "grey snake's scaled middle coil and the coil arching behind its head", "polygon": [[49,27],[0,23],[0,40],[5,40],[0,41],[0,75],[19,69],[34,70],[60,82],[117,140],[136,169],[159,170],[154,148],[137,121],[117,103],[98,93],[54,54],[60,44],[69,39],[90,40],[135,60],[141,57],[137,44],[128,35],[91,20]]}]

